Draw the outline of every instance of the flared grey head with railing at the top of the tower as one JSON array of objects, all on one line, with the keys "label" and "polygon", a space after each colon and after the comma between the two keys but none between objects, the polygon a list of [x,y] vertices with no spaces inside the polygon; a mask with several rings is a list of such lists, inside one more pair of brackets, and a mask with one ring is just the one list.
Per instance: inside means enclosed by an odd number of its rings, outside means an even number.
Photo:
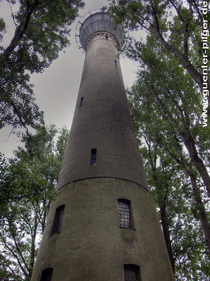
[{"label": "flared grey head with railing at the top of the tower", "polygon": [[79,48],[86,51],[86,41],[95,32],[110,32],[117,39],[119,46],[123,44],[124,29],[122,25],[115,25],[110,15],[103,12],[101,8],[93,8],[79,19],[76,30]]}]

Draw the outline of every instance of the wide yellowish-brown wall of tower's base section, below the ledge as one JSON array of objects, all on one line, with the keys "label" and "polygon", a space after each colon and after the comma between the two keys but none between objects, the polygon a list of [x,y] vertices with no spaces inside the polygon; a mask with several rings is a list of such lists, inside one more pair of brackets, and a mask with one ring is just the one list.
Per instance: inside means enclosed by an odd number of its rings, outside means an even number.
[{"label": "wide yellowish-brown wall of tower's base section, below the ledge", "polygon": [[[52,281],[123,281],[124,264],[140,266],[143,281],[172,281],[155,204],[136,183],[91,178],[61,188],[48,215],[32,281],[53,267]],[[117,200],[131,201],[135,230],[119,228]],[[50,236],[55,209],[65,204],[60,233]]]}]

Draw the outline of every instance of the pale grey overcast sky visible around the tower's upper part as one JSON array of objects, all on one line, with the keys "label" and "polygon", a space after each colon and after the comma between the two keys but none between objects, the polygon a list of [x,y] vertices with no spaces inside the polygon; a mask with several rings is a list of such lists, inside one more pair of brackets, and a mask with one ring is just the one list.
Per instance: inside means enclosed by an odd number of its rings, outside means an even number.
[{"label": "pale grey overcast sky visible around the tower's upper part", "polygon": [[[109,2],[107,0],[85,0],[85,3],[85,8],[79,11],[80,15],[96,6],[106,6]],[[14,27],[6,0],[1,6],[0,17],[6,17],[6,22],[10,27],[11,33],[4,39],[5,44],[9,44]],[[34,74],[31,79],[37,104],[44,111],[46,124],[55,124],[58,127],[66,125],[68,129],[72,124],[84,64],[84,54],[79,50],[74,37],[78,20],[79,18],[71,27],[71,46],[65,49],[65,53],[60,53],[59,58],[44,73]],[[121,58],[121,66],[124,84],[131,86],[136,79],[136,65],[127,58]],[[8,128],[0,131],[1,151],[6,157],[12,157],[12,151],[20,145],[16,136],[12,135],[8,138],[10,131]]]}]

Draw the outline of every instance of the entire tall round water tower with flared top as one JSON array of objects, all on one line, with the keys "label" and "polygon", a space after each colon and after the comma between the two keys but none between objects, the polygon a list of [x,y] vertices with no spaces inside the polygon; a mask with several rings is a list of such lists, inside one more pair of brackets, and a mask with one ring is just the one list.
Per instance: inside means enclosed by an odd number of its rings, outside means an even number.
[{"label": "entire tall round water tower with flared top", "polygon": [[173,281],[119,64],[121,26],[79,22],[84,70],[32,281]]}]

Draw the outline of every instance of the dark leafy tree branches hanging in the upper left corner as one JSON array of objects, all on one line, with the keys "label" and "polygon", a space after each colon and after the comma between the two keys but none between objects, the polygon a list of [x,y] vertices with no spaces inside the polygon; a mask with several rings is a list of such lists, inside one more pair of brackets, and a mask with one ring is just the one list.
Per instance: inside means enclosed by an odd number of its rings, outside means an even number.
[{"label": "dark leafy tree branches hanging in the upper left corner", "polygon": [[[11,43],[0,47],[0,128],[43,123],[43,112],[35,103],[29,74],[43,72],[58,53],[70,44],[70,25],[77,17],[81,0],[8,0],[11,6],[15,33]],[[13,7],[16,9],[13,12]],[[0,32],[5,31],[0,20]]]}]

